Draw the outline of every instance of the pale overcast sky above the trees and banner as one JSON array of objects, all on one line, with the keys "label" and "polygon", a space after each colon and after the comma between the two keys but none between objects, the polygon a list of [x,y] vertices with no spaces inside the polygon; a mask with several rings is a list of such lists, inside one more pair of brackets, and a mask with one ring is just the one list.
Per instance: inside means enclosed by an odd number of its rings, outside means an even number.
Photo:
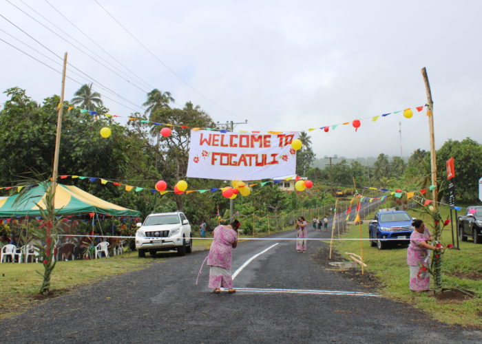
[{"label": "pale overcast sky above the trees and banner", "polygon": [[[8,1],[52,28],[41,14],[123,69],[47,2]],[[87,54],[76,49],[79,44],[63,32],[54,28],[73,45],[5,0],[0,14],[56,54],[68,52],[72,65],[123,96],[117,98],[94,82],[96,91],[124,105],[104,99],[112,114],[140,111],[146,98],[140,89],[156,87],[171,92],[174,106],[191,100],[215,121],[248,120],[238,130],[299,131],[424,105],[420,69],[427,67],[437,148],[449,138],[481,142],[476,100],[482,91],[482,1],[98,0],[164,65],[94,0],[48,1],[136,76],[121,78],[110,72],[90,59],[87,55],[92,54],[83,47]],[[1,17],[0,29],[57,59]],[[2,31],[0,38],[61,70]],[[59,94],[60,74],[2,41],[0,52],[2,91],[19,86],[38,101]],[[86,83],[71,72],[67,75]],[[72,98],[78,87],[67,80],[65,98]],[[5,100],[1,94],[1,103]],[[328,133],[311,131],[313,150],[317,158],[399,155],[399,122],[404,155],[429,149],[423,111],[410,119],[400,113],[377,122],[362,120],[357,133],[351,125]]]}]

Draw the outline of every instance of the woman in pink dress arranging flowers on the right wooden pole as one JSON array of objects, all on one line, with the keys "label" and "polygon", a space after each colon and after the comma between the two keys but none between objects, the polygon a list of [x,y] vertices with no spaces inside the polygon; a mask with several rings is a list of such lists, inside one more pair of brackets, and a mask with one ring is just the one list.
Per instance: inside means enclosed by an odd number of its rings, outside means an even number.
[{"label": "woman in pink dress arranging flowers on the right wooden pole", "polygon": [[410,245],[407,249],[407,263],[410,267],[410,290],[423,292],[429,290],[430,286],[428,250],[439,250],[439,248],[427,243],[433,237],[421,219],[412,222],[412,226],[415,227],[415,230],[410,235]]}]

